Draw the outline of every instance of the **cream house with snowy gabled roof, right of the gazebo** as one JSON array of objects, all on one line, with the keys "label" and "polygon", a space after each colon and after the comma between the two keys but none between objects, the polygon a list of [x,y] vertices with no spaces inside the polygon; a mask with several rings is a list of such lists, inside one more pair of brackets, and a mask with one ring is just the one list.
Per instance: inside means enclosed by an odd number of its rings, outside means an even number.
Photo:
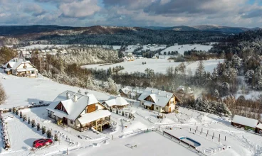
[{"label": "cream house with snowy gabled roof, right of the gazebo", "polygon": [[140,106],[159,113],[170,113],[175,110],[177,102],[181,102],[177,96],[167,91],[160,91],[147,87],[138,98]]}]

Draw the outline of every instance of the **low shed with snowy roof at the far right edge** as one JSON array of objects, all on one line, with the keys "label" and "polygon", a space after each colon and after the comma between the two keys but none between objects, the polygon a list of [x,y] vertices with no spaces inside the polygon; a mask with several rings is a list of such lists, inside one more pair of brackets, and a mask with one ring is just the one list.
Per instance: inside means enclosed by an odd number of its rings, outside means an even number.
[{"label": "low shed with snowy roof at the far right edge", "polygon": [[245,128],[245,130],[255,130],[256,126],[258,126],[258,120],[253,118],[246,118],[243,116],[235,115],[233,120],[231,121],[232,126],[236,126],[239,128]]}]

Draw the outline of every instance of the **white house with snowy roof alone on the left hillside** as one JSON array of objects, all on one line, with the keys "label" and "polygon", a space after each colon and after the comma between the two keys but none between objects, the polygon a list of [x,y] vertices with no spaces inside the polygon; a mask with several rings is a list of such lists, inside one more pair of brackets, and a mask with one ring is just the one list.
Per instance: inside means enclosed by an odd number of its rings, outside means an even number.
[{"label": "white house with snowy roof alone on the left hillside", "polygon": [[3,66],[6,74],[14,74],[18,77],[37,77],[38,69],[30,61],[15,57]]}]

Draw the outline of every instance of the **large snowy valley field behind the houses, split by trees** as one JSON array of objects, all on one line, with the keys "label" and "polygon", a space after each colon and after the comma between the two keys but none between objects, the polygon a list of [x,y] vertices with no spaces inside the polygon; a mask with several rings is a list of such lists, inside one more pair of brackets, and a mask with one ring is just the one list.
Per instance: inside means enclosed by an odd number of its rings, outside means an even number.
[{"label": "large snowy valley field behind the houses, split by trees", "polygon": [[[142,65],[142,62],[147,62],[147,64]],[[203,62],[206,72],[213,72],[213,69],[216,67],[216,65],[219,62],[224,62],[224,60],[223,59],[205,60]],[[96,64],[96,65],[85,65],[83,67],[108,69],[109,67],[112,68],[120,65],[125,68],[121,72],[145,72],[145,69],[150,68],[150,69],[154,69],[154,72],[160,72],[164,74],[167,72],[167,67],[177,67],[180,63],[182,62],[169,62],[169,60],[164,60],[164,59],[137,59],[130,62],[120,62],[112,65]],[[194,71],[196,70],[198,63],[199,61],[185,62],[185,65],[187,66],[187,70],[190,69],[194,74]]]}]

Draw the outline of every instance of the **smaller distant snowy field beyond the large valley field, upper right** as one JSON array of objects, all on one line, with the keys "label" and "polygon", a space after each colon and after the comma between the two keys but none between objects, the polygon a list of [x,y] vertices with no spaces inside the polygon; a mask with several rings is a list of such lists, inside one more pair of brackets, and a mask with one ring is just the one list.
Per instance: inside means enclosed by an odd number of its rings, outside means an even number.
[{"label": "smaller distant snowy field beyond the large valley field, upper right", "polygon": [[189,50],[201,50],[201,51],[209,51],[213,46],[212,45],[174,45],[171,47],[168,47],[165,50],[162,50],[161,54],[163,55],[164,52],[172,52],[172,51],[178,51],[179,54],[184,55],[185,51]]}]

